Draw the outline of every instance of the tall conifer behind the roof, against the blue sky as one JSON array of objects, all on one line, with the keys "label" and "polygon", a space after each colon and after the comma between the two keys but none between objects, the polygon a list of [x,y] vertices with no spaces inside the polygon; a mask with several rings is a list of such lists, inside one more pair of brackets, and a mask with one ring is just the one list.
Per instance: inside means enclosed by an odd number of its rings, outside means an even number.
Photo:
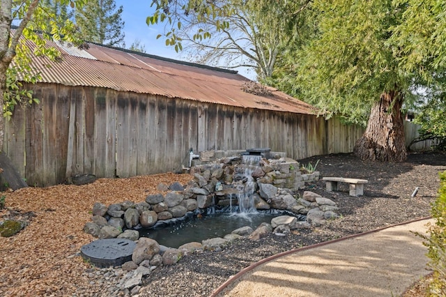
[{"label": "tall conifer behind the roof, against the blue sky", "polygon": [[84,40],[123,46],[125,34],[121,13],[123,7],[116,9],[114,0],[91,0],[75,11],[75,19]]}]

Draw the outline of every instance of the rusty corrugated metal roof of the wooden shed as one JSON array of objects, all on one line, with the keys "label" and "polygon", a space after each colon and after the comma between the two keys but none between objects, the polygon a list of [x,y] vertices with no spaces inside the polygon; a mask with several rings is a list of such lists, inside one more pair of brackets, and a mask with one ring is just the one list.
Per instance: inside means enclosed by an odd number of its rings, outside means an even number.
[{"label": "rusty corrugated metal roof of the wooden shed", "polygon": [[[52,44],[56,46],[56,44]],[[98,86],[237,107],[313,114],[313,107],[281,91],[256,96],[242,90],[249,79],[234,71],[174,61],[90,44],[87,50],[59,47],[63,61],[33,57],[41,82]]]}]

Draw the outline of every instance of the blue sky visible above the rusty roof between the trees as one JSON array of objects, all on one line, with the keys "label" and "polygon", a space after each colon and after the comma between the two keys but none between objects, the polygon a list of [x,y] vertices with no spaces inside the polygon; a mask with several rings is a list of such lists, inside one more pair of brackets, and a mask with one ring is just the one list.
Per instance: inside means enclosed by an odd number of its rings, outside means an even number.
[{"label": "blue sky visible above the rusty roof between the trees", "polygon": [[[123,6],[121,17],[125,22],[125,47],[130,47],[138,39],[147,54],[185,61],[181,54],[175,52],[174,47],[165,45],[165,38],[156,39],[158,34],[164,33],[166,24],[146,24],[146,18],[155,12],[155,7],[151,7],[151,0],[115,0],[115,3],[116,7]],[[238,71],[240,75],[255,79],[255,74],[248,73],[247,70]]]}]

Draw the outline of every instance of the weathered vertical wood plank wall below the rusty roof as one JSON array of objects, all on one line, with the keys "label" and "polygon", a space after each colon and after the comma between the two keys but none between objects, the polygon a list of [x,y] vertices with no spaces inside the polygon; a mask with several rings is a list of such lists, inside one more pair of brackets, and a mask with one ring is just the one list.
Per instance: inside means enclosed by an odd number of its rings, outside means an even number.
[{"label": "weathered vertical wood plank wall below the rusty roof", "polygon": [[[348,153],[364,131],[339,119],[38,84],[39,105],[15,109],[3,150],[29,185],[74,174],[129,177],[176,172],[188,152],[269,147],[295,160]],[[407,136],[406,136],[407,137]]]}]

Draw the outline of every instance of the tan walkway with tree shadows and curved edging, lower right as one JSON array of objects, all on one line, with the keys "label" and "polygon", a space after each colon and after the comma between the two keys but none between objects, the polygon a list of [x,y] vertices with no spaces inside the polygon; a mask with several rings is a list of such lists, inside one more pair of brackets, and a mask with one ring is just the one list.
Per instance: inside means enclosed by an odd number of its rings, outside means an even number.
[{"label": "tan walkway with tree shadows and curved edging, lower right", "polygon": [[429,274],[422,238],[432,219],[312,245],[240,271],[212,296],[400,296]]}]

